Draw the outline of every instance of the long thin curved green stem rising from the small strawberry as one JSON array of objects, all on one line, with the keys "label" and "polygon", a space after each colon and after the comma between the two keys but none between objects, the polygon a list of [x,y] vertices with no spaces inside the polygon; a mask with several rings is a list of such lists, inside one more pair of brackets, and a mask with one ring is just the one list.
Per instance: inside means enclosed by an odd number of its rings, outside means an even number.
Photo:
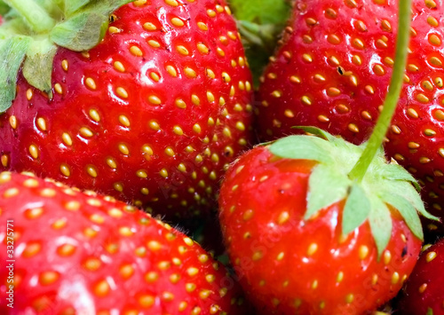
[{"label": "long thin curved green stem rising from the small strawberry", "polygon": [[383,145],[385,134],[392,122],[392,116],[398,105],[400,90],[404,81],[404,70],[407,63],[408,42],[410,38],[411,0],[399,0],[398,36],[396,41],[395,61],[389,90],[385,96],[383,111],[377,119],[377,124],[367,142],[360,159],[349,173],[349,177],[361,182],[373,158]]}]

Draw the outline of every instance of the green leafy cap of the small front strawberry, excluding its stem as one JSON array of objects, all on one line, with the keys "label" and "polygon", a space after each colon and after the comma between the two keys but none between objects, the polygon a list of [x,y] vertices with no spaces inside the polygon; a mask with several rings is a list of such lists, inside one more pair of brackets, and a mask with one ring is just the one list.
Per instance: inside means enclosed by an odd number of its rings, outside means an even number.
[{"label": "green leafy cap of the small front strawberry, excluding its stem", "polygon": [[314,135],[295,135],[276,140],[272,154],[288,159],[318,161],[308,181],[305,220],[321,210],[345,200],[341,231],[344,235],[369,222],[380,256],[392,235],[392,215],[388,205],[397,209],[413,234],[424,239],[419,214],[433,217],[424,209],[419,186],[408,171],[386,161],[382,149],[369,164],[360,181],[350,177],[368,143],[353,145],[323,130],[305,128]]}]

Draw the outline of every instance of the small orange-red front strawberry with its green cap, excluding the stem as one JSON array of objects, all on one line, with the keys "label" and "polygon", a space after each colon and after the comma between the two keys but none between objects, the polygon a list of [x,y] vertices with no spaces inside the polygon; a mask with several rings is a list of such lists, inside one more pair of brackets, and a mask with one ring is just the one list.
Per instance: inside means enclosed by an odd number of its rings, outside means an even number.
[{"label": "small orange-red front strawberry with its green cap, excluding the stem", "polygon": [[[219,215],[228,255],[262,314],[374,311],[416,264],[415,208],[424,206],[400,180],[407,171],[381,153],[360,185],[342,174],[362,147],[353,155],[352,145],[330,140],[282,138],[243,154],[226,173]],[[283,150],[299,158],[282,158]]]}]

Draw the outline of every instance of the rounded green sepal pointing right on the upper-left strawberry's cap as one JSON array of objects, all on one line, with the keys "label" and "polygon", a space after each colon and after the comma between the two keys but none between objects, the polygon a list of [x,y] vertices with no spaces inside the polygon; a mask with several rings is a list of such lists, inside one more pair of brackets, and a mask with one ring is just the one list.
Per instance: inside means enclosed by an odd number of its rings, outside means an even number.
[{"label": "rounded green sepal pointing right on the upper-left strawberry's cap", "polygon": [[51,39],[71,51],[87,51],[97,45],[107,29],[108,17],[100,13],[79,13],[52,28]]}]

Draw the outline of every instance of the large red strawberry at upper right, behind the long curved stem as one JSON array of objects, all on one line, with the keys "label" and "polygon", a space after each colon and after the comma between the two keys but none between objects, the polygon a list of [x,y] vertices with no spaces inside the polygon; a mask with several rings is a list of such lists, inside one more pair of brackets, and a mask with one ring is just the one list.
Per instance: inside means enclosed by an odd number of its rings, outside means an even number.
[{"label": "large red strawberry at upper right, behind the long curved stem", "polygon": [[[261,138],[295,133],[293,126],[317,126],[355,144],[369,138],[392,75],[397,3],[297,0],[258,91]],[[440,1],[413,1],[408,66],[385,144],[424,186],[437,216],[444,207],[442,9]]]}]

